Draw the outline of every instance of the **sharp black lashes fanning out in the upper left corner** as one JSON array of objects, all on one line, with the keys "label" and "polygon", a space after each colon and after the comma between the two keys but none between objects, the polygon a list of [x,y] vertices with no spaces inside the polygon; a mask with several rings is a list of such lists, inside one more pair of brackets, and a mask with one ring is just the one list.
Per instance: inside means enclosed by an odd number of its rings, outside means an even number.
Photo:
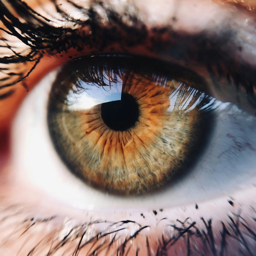
[{"label": "sharp black lashes fanning out in the upper left corner", "polygon": [[[71,3],[73,6],[81,9],[79,6],[75,5],[74,3],[67,0],[67,2]],[[96,24],[94,19],[97,19],[96,13],[93,9],[93,6],[89,8],[87,11],[83,10],[83,12],[86,12],[86,14],[90,17],[89,20],[81,21],[73,19],[72,17],[69,17],[68,14],[66,14],[63,10],[60,9],[60,7],[56,4],[55,1],[53,1],[55,4],[56,10],[61,13],[61,15],[65,18],[65,20],[69,20],[73,23],[73,27],[75,27],[77,24],[79,24],[80,27],[85,27],[88,25],[92,25],[93,23]],[[97,3],[97,1],[94,2],[94,4]],[[97,4],[102,5],[100,2]],[[80,35],[79,33],[75,33],[75,30],[72,28],[64,28],[64,27],[54,27],[54,25],[50,24],[49,22],[51,20],[43,17],[42,15],[38,14],[37,12],[33,11],[30,7],[27,6],[26,3],[15,0],[10,3],[10,5],[14,8],[14,10],[19,14],[20,17],[25,19],[25,23],[21,23],[17,17],[15,17],[11,12],[8,10],[7,7],[3,4],[2,1],[0,1],[0,8],[1,8],[1,14],[0,14],[0,20],[3,22],[7,30],[0,28],[0,30],[4,31],[8,35],[15,36],[17,39],[19,39],[21,42],[24,43],[24,45],[27,45],[30,47],[31,51],[27,55],[22,55],[21,53],[15,52],[10,45],[8,45],[8,42],[6,42],[6,39],[0,39],[2,42],[4,42],[4,45],[2,47],[10,48],[13,55],[11,56],[4,56],[0,59],[0,64],[19,64],[24,63],[26,61],[34,62],[34,66],[32,67],[32,70],[36,67],[36,65],[39,63],[42,56],[47,52],[50,55],[56,55],[63,52],[67,52],[68,49],[71,47],[76,48],[77,51],[83,50],[83,45],[81,42],[83,41],[83,44],[94,46],[96,45],[95,39],[90,34],[88,35]],[[116,13],[113,13],[111,10],[108,10],[109,12],[109,18],[112,20],[120,20],[119,17],[117,17]],[[85,14],[85,13],[84,13]],[[136,20],[135,16],[130,17],[133,22]],[[34,22],[31,22],[34,21]],[[36,21],[36,22],[35,22]],[[38,26],[39,25],[39,26]],[[123,28],[128,26],[124,25]],[[91,26],[92,28],[92,26]],[[133,27],[135,28],[135,27]],[[18,33],[15,29],[20,30],[20,33]],[[139,38],[138,41],[141,41],[141,30],[142,27],[139,26],[137,29],[137,38]],[[61,40],[60,40],[61,39]],[[133,38],[134,41],[135,37]],[[104,49],[107,46],[106,42],[98,42],[97,47],[99,49]],[[6,69],[6,67],[4,67]],[[1,70],[1,67],[0,67]],[[3,70],[3,68],[2,68]],[[29,73],[31,73],[31,71]],[[26,75],[23,75],[22,77],[19,76],[17,80],[15,80],[12,83],[8,83],[7,78],[0,80],[0,89],[4,87],[9,87],[17,82],[22,81],[24,78],[26,78],[29,73]],[[11,76],[18,75],[15,72],[11,72]],[[8,74],[7,74],[8,76]],[[1,83],[2,82],[2,83]]]}]

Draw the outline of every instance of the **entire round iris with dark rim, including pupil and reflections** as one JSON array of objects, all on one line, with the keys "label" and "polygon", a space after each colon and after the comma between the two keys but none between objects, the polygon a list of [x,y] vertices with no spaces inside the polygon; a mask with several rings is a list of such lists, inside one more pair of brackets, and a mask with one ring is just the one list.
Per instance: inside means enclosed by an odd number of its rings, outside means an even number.
[{"label": "entire round iris with dark rim, including pupil and reflections", "polygon": [[69,170],[99,190],[137,195],[189,172],[214,127],[204,80],[177,65],[108,55],[66,64],[48,129]]}]

